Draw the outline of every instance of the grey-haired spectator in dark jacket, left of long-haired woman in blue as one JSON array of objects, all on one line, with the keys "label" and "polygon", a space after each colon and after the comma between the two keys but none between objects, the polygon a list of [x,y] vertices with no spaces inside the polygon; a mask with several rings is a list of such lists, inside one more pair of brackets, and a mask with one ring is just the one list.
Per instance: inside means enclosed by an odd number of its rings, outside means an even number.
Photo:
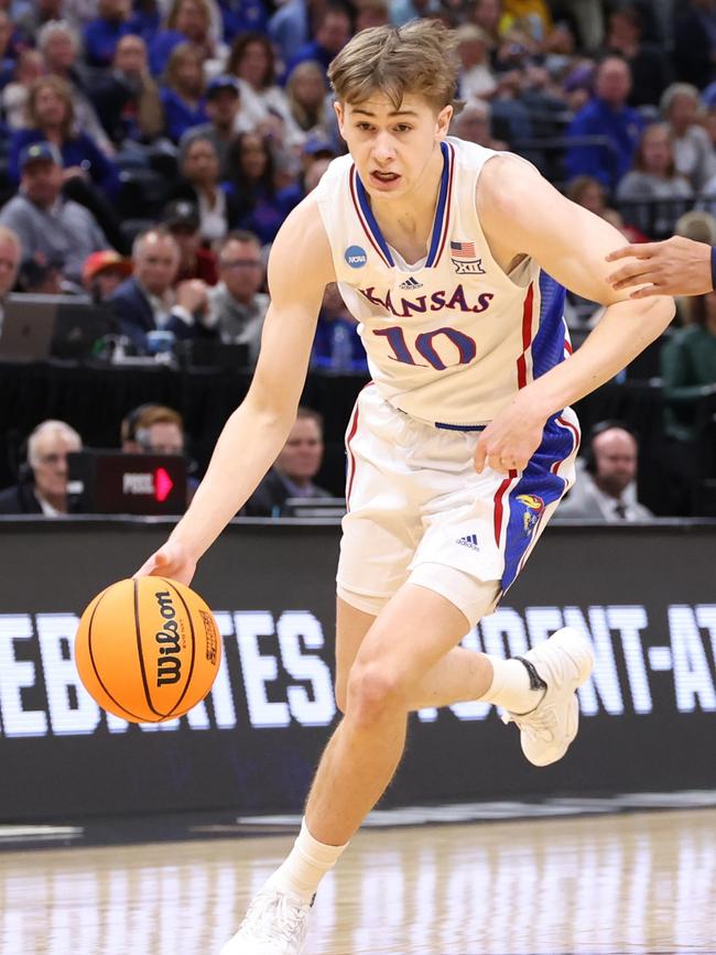
[{"label": "grey-haired spectator in dark jacket, left of long-haired woman in blue", "polygon": [[93,85],[93,101],[117,148],[151,143],[164,130],[159,87],[147,63],[147,44],[130,33],[120,37],[111,69]]}]

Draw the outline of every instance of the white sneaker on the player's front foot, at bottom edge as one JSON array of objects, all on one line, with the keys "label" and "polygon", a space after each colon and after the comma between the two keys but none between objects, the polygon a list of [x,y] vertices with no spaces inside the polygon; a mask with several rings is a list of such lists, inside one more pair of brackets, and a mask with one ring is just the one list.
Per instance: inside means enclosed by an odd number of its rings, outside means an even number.
[{"label": "white sneaker on the player's front foot, at bottom edge", "polygon": [[299,955],[312,904],[300,896],[264,886],[219,955]]}]

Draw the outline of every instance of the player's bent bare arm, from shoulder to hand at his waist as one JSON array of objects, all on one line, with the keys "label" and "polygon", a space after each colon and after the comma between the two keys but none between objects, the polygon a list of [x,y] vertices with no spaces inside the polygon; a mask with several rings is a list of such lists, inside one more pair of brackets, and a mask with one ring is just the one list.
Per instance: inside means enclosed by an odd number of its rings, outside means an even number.
[{"label": "player's bent bare arm, from shoulder to hand at his waist", "polygon": [[528,163],[490,160],[480,175],[478,215],[501,263],[531,256],[557,282],[606,305],[603,318],[575,354],[523,388],[482,432],[476,467],[527,466],[550,415],[609,381],[674,316],[672,299],[629,299],[608,282],[606,256],[623,246],[621,234],[566,199]]}]

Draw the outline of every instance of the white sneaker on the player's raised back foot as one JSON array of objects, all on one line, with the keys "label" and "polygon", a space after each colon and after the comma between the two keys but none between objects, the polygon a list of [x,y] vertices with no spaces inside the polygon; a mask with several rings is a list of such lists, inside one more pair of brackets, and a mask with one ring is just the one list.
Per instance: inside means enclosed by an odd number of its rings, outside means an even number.
[{"label": "white sneaker on the player's raised back foot", "polygon": [[530,713],[507,713],[502,721],[519,726],[522,752],[531,763],[549,766],[562,759],[577,735],[575,691],[594,669],[594,650],[583,633],[564,627],[516,659],[529,670],[532,687],[544,687],[544,695]]}]

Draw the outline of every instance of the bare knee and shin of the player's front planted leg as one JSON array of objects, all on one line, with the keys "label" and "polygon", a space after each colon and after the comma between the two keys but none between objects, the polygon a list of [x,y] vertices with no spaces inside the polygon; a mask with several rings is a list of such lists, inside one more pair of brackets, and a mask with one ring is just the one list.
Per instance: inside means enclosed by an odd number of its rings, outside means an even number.
[{"label": "bare knee and shin of the player's front planted leg", "polygon": [[[415,686],[467,629],[453,604],[423,587],[402,587],[375,619],[350,669],[346,715],[308,795],[315,839],[344,845],[378,802],[403,752]],[[489,680],[486,669],[486,685]]]}]

